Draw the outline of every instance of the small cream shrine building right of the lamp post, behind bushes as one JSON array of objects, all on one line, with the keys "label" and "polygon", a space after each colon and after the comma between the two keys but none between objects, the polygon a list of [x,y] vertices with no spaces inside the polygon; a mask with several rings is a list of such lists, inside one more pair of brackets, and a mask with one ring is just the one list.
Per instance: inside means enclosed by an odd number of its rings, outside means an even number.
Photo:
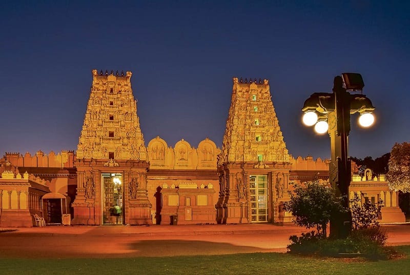
[{"label": "small cream shrine building right of the lamp post, behind bushes", "polygon": [[364,170],[364,175],[354,174],[350,184],[350,198],[354,198],[357,193],[362,202],[370,200],[376,204],[381,200],[380,223],[404,223],[406,221],[404,213],[398,205],[398,192],[391,190],[384,180],[384,175],[375,176],[371,169]]}]

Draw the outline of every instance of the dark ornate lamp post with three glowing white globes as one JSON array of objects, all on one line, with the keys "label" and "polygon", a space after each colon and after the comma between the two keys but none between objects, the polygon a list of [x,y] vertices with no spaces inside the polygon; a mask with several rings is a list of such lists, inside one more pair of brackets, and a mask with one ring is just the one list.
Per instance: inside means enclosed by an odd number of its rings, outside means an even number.
[{"label": "dark ornate lamp post with three glowing white globes", "polygon": [[[303,123],[315,125],[318,133],[329,133],[331,139],[331,163],[329,180],[336,196],[343,196],[343,206],[349,206],[348,188],[351,182],[351,165],[348,159],[347,136],[350,133],[350,115],[360,113],[359,124],[370,127],[375,109],[370,99],[362,93],[363,79],[358,73],[342,73],[335,76],[333,93],[313,93],[304,102]],[[332,238],[345,238],[352,228],[350,211],[334,214],[330,220]]]}]

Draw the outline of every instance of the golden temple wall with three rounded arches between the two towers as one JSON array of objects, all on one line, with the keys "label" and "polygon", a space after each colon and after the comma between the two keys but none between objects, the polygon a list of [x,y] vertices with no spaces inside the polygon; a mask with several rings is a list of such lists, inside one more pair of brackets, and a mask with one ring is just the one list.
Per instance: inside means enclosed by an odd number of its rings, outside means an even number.
[{"label": "golden temple wall with three rounded arches between the two towers", "polygon": [[[219,193],[216,156],[219,153],[220,149],[208,138],[201,141],[198,148],[183,139],[172,148],[159,136],[149,142],[147,188],[154,224],[170,224],[171,215],[178,215],[178,224],[216,223],[215,203]],[[187,186],[189,188],[184,188]],[[169,194],[171,198],[174,198],[172,195],[178,197],[178,207],[168,205]],[[191,205],[187,206],[187,202]]]}]

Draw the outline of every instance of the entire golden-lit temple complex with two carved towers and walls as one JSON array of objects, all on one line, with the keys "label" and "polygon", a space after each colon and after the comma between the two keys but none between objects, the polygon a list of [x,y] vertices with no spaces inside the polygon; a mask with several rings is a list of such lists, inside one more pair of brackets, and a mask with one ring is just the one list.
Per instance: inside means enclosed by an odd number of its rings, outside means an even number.
[{"label": "entire golden-lit temple complex with two carved towers and walls", "polygon": [[[172,147],[159,136],[146,146],[131,76],[92,70],[75,152],[5,154],[1,227],[290,222],[291,183],[329,180],[328,161],[289,154],[268,80],[233,78],[220,149],[208,138]],[[381,222],[404,222],[398,194],[366,173],[353,175],[351,196],[382,199]]]}]

